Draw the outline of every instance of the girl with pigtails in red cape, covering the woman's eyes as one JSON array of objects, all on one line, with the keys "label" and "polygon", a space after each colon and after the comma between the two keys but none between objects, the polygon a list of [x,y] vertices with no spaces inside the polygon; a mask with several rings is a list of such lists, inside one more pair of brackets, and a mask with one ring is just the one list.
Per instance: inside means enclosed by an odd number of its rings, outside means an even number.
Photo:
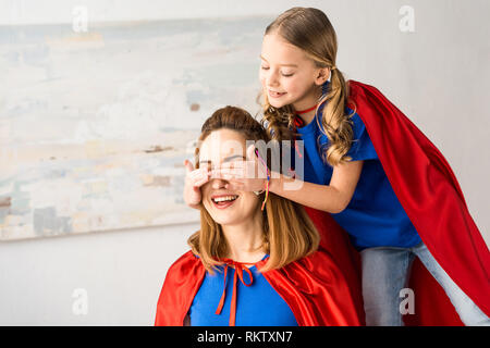
[{"label": "girl with pigtails in red cape, covering the woman's eyes", "polygon": [[[332,213],[350,234],[360,251],[368,325],[402,325],[400,294],[415,257],[463,323],[488,325],[490,254],[448,162],[376,88],[345,82],[335,58],[335,32],[320,10],[291,9],[266,29],[264,122],[274,139],[305,147],[302,188],[284,189],[292,179],[279,174],[270,191]],[[250,162],[219,174],[230,188],[258,190],[265,179],[243,175]],[[189,206],[198,186],[189,175]]]}]

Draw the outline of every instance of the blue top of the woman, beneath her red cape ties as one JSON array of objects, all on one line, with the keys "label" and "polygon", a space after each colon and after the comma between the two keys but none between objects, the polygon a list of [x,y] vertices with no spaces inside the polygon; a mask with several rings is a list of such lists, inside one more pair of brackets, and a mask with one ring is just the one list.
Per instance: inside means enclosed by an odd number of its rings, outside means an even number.
[{"label": "blue top of the woman, beneath her red cape ties", "polygon": [[[267,257],[267,256],[266,256]],[[266,277],[254,265],[249,268],[253,274],[250,286],[236,281],[236,326],[297,326],[296,319],[287,303],[272,288]],[[224,265],[219,266],[215,274],[206,272],[203,284],[194,297],[189,309],[192,326],[228,326],[230,321],[230,304],[233,293],[233,276],[235,270],[228,269],[226,297],[220,314],[216,310],[221,299],[224,286]],[[245,283],[250,278],[243,272]]]}]

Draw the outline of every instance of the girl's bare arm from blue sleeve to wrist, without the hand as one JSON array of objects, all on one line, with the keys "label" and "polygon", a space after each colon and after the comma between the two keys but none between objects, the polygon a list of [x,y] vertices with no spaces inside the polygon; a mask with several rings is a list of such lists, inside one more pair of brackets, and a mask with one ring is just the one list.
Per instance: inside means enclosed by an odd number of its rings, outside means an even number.
[{"label": "girl's bare arm from blue sleeve to wrist, without the hand", "polygon": [[351,161],[335,165],[330,185],[311,184],[272,173],[269,190],[306,207],[340,213],[354,195],[363,162]]}]

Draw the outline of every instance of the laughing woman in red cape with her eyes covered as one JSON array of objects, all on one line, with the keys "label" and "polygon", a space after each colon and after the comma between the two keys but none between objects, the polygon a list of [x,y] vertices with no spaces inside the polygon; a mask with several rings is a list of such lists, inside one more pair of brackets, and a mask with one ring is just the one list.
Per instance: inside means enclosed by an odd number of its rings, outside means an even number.
[{"label": "laughing woman in red cape with her eyes covered", "polygon": [[[243,160],[246,140],[269,139],[246,111],[216,111],[203,125],[196,167]],[[201,228],[167,273],[156,325],[363,324],[360,291],[317,250],[319,235],[303,208],[226,185],[212,177],[203,185]]]}]

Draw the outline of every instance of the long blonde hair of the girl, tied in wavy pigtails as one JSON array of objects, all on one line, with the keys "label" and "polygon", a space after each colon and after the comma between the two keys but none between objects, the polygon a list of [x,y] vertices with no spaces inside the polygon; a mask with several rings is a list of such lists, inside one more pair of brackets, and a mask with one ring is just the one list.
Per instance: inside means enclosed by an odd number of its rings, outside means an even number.
[{"label": "long blonde hair of the girl, tied in wavy pigtails", "polygon": [[[330,165],[351,160],[346,156],[352,145],[352,114],[345,113],[348,89],[343,74],[335,66],[336,35],[327,15],[313,8],[293,8],[273,21],[265,35],[280,35],[291,45],[302,49],[318,67],[329,67],[331,79],[318,107],[326,103],[321,115],[321,132],[328,137],[329,146],[322,159]],[[320,88],[320,87],[319,87]],[[264,94],[264,121],[274,139],[292,139],[295,110],[292,104],[273,108]],[[318,108],[317,108],[318,110]]]}]

